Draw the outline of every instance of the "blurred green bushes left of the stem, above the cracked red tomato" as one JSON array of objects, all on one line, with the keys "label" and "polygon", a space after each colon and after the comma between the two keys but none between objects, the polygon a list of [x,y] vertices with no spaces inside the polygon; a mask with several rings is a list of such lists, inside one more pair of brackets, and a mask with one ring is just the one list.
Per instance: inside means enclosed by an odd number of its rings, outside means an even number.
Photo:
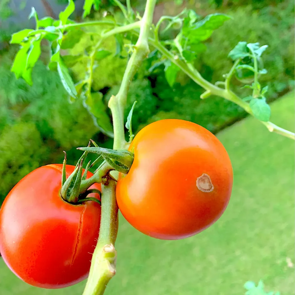
[{"label": "blurred green bushes left of the stem, above the cracked red tomato", "polygon": [[81,101],[69,104],[57,73],[38,61],[30,87],[10,73],[11,57],[0,57],[0,201],[27,173],[61,162],[63,150],[98,132]]}]

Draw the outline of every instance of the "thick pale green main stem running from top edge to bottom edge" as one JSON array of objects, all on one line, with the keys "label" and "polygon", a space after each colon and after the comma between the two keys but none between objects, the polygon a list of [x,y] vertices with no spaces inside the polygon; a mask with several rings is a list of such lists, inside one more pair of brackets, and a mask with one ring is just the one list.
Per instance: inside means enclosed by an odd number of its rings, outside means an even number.
[{"label": "thick pale green main stem running from top edge to bottom edge", "polygon": [[[124,108],[130,83],[148,55],[148,37],[152,24],[156,0],[147,0],[144,16],[140,21],[140,34],[134,52],[130,57],[120,90],[109,100],[114,126],[114,149],[126,148],[124,132]],[[88,281],[83,295],[102,295],[108,281],[116,273],[116,250],[114,247],[117,233],[116,184],[110,180],[109,184],[102,185],[100,234],[97,246],[92,256]]]}]

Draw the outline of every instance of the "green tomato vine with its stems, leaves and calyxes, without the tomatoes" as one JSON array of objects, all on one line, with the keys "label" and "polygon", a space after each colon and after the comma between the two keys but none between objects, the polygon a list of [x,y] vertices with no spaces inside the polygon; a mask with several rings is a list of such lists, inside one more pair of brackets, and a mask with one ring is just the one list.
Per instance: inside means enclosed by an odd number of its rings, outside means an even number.
[{"label": "green tomato vine with its stems, leaves and calyxes, without the tomatoes", "polygon": [[[108,281],[116,272],[116,249],[114,246],[117,234],[118,212],[115,193],[116,179],[118,179],[118,171],[128,172],[133,160],[131,153],[124,154],[124,151],[126,152],[130,144],[130,142],[128,143],[125,140],[124,108],[130,83],[144,59],[155,57],[155,52],[160,53],[161,57],[155,58],[153,66],[165,65],[165,76],[171,86],[175,83],[179,70],[182,70],[195,83],[205,89],[201,99],[209,99],[210,96],[214,95],[221,96],[238,104],[250,115],[255,116],[270,132],[276,132],[290,139],[295,139],[293,132],[285,130],[269,121],[270,107],[265,99],[267,87],[262,88],[259,83],[259,76],[266,72],[265,69],[259,67],[262,53],[267,49],[266,45],[260,46],[259,43],[247,44],[246,42],[239,42],[229,53],[229,57],[233,60],[232,68],[224,75],[224,81],[217,81],[215,84],[205,80],[195,68],[194,61],[198,56],[200,47],[202,47],[202,42],[208,39],[215,29],[222,26],[224,22],[229,21],[230,17],[224,14],[210,14],[203,19],[199,19],[199,16],[193,10],[183,10],[175,17],[162,16],[157,24],[154,25],[152,21],[156,0],[146,1],[142,18],[132,10],[130,0],[126,2],[127,7],[123,6],[118,0],[114,0],[114,3],[124,15],[123,23],[117,22],[113,17],[105,17],[105,19],[99,21],[73,22],[69,19],[69,16],[75,10],[72,0],[69,0],[69,5],[60,13],[58,20],[50,17],[39,19],[37,12],[33,9],[30,18],[35,18],[36,28],[34,30],[24,29],[13,34],[10,42],[12,44],[20,44],[21,46],[15,57],[12,71],[16,77],[22,77],[27,83],[32,84],[31,72],[41,54],[41,40],[47,40],[52,51],[49,68],[57,68],[69,96],[74,99],[81,97],[85,107],[92,115],[95,123],[100,127],[100,130],[114,137],[114,145],[111,152],[97,146],[94,148],[89,146],[88,149],[80,148],[83,151],[99,153],[105,161],[91,178],[82,179],[82,160],[80,160],[79,164],[81,169],[77,166],[76,175],[74,175],[77,177],[77,182],[75,183],[79,185],[72,187],[69,184],[70,177],[68,178],[68,183],[66,183],[67,180],[63,177],[62,184],[64,190],[62,190],[62,195],[69,195],[65,199],[73,200],[77,199],[80,193],[85,193],[93,183],[100,183],[102,177],[109,173],[110,170],[116,170],[113,176],[108,179],[108,182],[101,185],[100,235],[92,256],[90,274],[84,295],[103,294]],[[99,10],[100,4],[100,1],[85,0],[83,16],[86,17],[90,13],[92,6]],[[165,31],[173,24],[180,24],[177,36],[171,40],[161,40],[160,30],[163,25],[163,31]],[[63,41],[67,38],[67,34],[74,29],[85,29],[85,27],[90,26],[104,27],[102,33],[98,34],[99,41],[96,45],[86,50],[88,52],[84,56],[62,56],[61,49],[63,49]],[[101,48],[103,41],[111,36],[116,37],[118,44],[116,51],[120,53],[124,47],[123,38],[118,37],[121,36],[120,34],[124,34],[124,38],[130,41],[128,53],[131,53],[131,55],[120,89],[108,102],[108,107],[112,113],[113,124],[111,126],[108,119],[106,119],[107,115],[100,108],[102,104],[100,93],[92,92],[92,81],[93,71],[98,66],[98,61],[110,54]],[[135,44],[132,43],[134,37],[137,38]],[[151,48],[154,51],[151,52]],[[81,59],[88,61],[88,67],[85,70],[84,79],[74,84],[68,67],[71,67],[76,61]],[[244,88],[251,89],[252,94],[241,98],[231,90],[230,83],[234,75],[242,77],[244,71],[252,72],[254,74],[254,81],[251,85],[244,86]],[[128,117],[128,120],[131,120],[131,116]],[[128,126],[130,127],[130,139],[132,139],[130,122]],[[116,154],[118,150],[120,150],[120,155]],[[70,192],[68,191],[69,187],[72,190]]]}]

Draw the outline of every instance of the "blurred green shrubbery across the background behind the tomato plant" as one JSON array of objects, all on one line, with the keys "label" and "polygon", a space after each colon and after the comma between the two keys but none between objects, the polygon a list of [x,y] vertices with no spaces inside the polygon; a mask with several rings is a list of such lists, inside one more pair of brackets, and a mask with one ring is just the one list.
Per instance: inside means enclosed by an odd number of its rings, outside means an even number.
[{"label": "blurred green shrubbery across the background behind the tomato plant", "polygon": [[[234,20],[206,42],[207,51],[199,57],[196,67],[208,81],[215,82],[230,69],[232,62],[227,54],[238,41],[268,44],[265,54],[268,74],[262,77],[262,85],[269,85],[268,99],[275,99],[287,92],[294,81],[293,0],[274,1],[255,10],[254,6],[245,6],[246,2],[239,7],[240,3],[229,1],[229,6],[220,8],[216,5],[217,11],[232,15]],[[202,8],[203,15],[213,12],[208,2],[206,5],[207,9]],[[89,37],[84,37],[72,53],[83,52],[89,42]],[[114,51],[114,44],[115,40],[108,39],[104,47]],[[69,103],[57,73],[49,72],[41,61],[33,70],[33,87],[16,80],[10,73],[14,53],[15,48],[11,47],[0,56],[0,202],[29,171],[50,162],[61,162],[62,150],[69,151],[69,163],[74,163],[79,155],[75,148],[87,144],[89,138],[107,147],[112,144],[98,131],[81,101]],[[118,91],[126,62],[127,59],[110,56],[95,70],[92,87],[104,93],[105,104]],[[84,64],[73,67],[75,80],[83,78],[84,69]],[[242,85],[234,79],[233,82],[235,90],[241,92]],[[181,118],[218,132],[246,116],[241,108],[222,98],[200,100],[202,92],[184,74],[179,75],[172,89],[163,68],[149,73],[143,65],[130,86],[125,118],[135,100],[138,104],[132,125],[136,131],[156,120]],[[244,91],[242,94],[248,95]]]}]

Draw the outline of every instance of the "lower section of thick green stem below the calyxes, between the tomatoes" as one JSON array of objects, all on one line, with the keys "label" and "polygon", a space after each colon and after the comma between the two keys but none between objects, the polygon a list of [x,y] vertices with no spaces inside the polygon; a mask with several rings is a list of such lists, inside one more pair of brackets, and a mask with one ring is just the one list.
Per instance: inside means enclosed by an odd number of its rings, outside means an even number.
[{"label": "lower section of thick green stem below the calyxes, between the tomatoes", "polygon": [[116,273],[116,249],[114,247],[118,223],[116,202],[116,183],[110,180],[108,186],[101,186],[100,232],[92,255],[89,277],[83,295],[101,295]]}]

